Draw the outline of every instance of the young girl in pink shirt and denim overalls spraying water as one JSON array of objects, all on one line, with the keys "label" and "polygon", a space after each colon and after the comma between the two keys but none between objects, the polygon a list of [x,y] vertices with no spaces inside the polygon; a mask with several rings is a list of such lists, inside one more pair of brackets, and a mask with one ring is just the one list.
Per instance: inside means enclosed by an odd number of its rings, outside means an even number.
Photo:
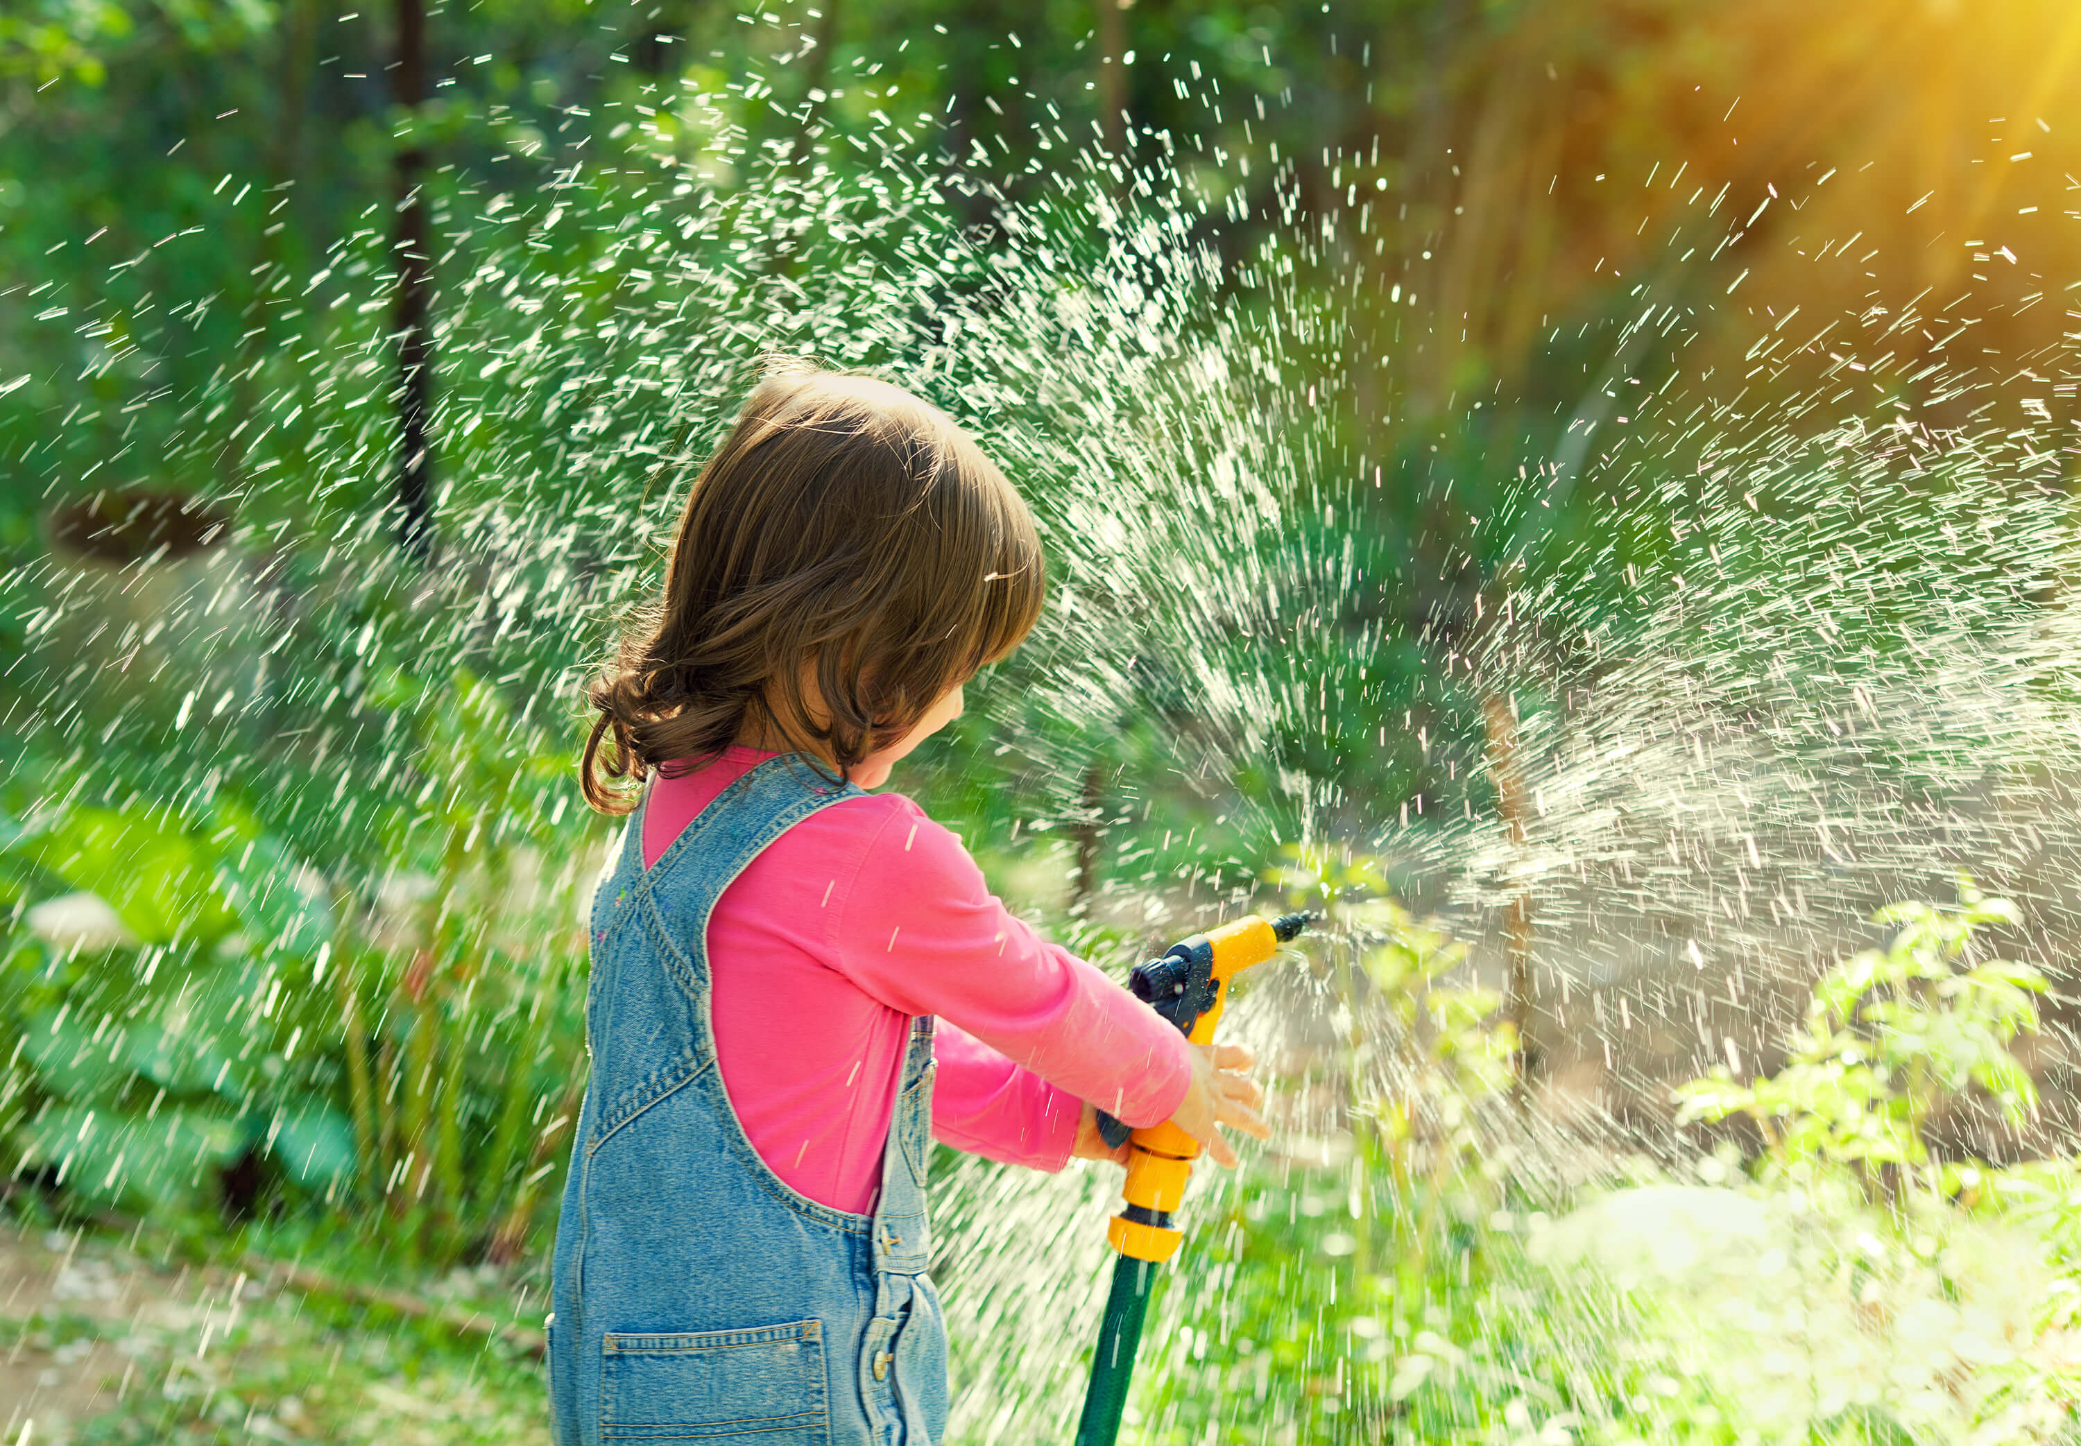
[{"label": "young girl in pink shirt and denim overalls spraying water", "polygon": [[[558,1446],[928,1446],[930,1138],[1061,1169],[1095,1107],[1263,1136],[1192,1047],[868,793],[1043,601],[1011,483],[880,381],[768,377],[693,483],[664,599],[593,685],[591,1082],[556,1232]],[[641,789],[637,801],[635,786]]]}]

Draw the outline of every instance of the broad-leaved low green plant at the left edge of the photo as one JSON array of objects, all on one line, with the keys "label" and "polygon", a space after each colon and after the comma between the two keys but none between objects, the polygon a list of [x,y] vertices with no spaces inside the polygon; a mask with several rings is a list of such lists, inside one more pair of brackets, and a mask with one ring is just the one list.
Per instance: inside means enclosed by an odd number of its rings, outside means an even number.
[{"label": "broad-leaved low green plant at the left edge of the photo", "polygon": [[333,922],[279,838],[229,799],[206,826],[81,805],[17,828],[6,863],[23,880],[0,972],[21,1036],[0,1109],[0,1128],[19,1121],[15,1169],[85,1200],[194,1209],[216,1169],[287,1134],[289,1176],[337,1184],[320,1146],[343,1115],[298,1101],[323,1074],[327,1015],[300,990]]}]

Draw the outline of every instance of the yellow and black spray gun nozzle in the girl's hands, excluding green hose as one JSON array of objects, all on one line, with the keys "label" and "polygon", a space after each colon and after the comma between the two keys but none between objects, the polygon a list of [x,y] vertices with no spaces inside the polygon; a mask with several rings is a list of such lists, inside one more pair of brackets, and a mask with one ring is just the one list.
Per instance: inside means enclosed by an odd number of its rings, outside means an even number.
[{"label": "yellow and black spray gun nozzle in the girl's hands, excluding green hose", "polygon": [[[1211,1044],[1228,1007],[1228,984],[1263,963],[1317,915],[1284,913],[1278,920],[1249,915],[1172,945],[1161,959],[1134,970],[1134,995],[1176,1024],[1194,1044]],[[1101,1130],[1105,1128],[1101,1119]],[[1111,1121],[1117,1130],[1117,1121]],[[1115,1134],[1107,1134],[1117,1144]],[[1172,1211],[1184,1198],[1184,1182],[1199,1157],[1199,1140],[1165,1121],[1134,1130],[1128,1138],[1128,1207],[1107,1223],[1107,1238],[1122,1255],[1138,1261],[1167,1261],[1182,1232],[1172,1228]]]}]

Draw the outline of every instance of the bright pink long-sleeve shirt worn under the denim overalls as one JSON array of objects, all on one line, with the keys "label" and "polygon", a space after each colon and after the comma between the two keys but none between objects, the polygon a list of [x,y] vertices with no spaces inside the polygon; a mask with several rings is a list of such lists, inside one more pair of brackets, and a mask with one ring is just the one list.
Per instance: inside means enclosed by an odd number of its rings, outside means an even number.
[{"label": "bright pink long-sleeve shirt worn under the denim overalls", "polygon": [[[651,782],[643,863],[772,757],[733,747]],[[722,1086],[780,1180],[868,1213],[914,1015],[939,1015],[932,1134],[1061,1169],[1082,1101],[1151,1126],[1184,1101],[1184,1036],[982,882],[949,830],[899,793],[845,799],[789,828],[708,922]]]}]

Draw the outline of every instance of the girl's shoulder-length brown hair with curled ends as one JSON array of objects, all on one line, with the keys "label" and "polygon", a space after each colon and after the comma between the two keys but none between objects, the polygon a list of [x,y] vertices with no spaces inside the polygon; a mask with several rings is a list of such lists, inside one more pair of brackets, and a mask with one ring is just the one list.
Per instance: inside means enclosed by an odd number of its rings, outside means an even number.
[{"label": "girl's shoulder-length brown hair with curled ends", "polygon": [[585,801],[626,814],[651,770],[747,732],[845,776],[1018,647],[1043,591],[1032,514],[953,418],[870,377],[770,375],[687,495],[664,599],[587,689]]}]

